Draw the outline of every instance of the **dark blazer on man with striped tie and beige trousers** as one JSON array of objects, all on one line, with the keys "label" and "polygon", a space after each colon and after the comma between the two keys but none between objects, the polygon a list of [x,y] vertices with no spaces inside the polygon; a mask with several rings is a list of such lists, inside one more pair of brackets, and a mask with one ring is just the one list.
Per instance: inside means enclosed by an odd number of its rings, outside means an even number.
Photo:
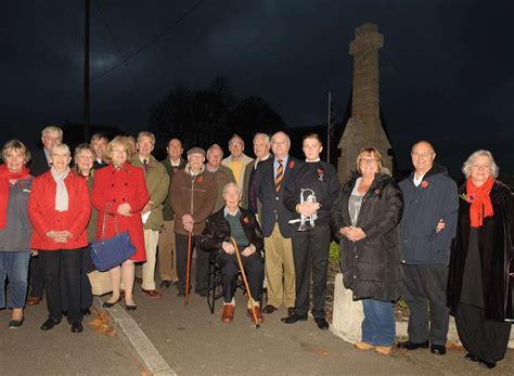
[{"label": "dark blazer on man with striped tie and beige trousers", "polygon": [[287,179],[291,179],[293,169],[300,167],[304,161],[292,157],[287,158],[287,165],[284,166],[284,178],[282,180],[282,187],[279,192],[274,189],[274,157],[270,157],[257,165],[256,190],[257,197],[262,204],[259,212],[259,219],[262,226],[262,234],[266,237],[271,236],[275,218],[279,220],[279,229],[283,237],[291,237],[291,225],[288,221],[293,213],[287,210],[283,203],[284,186]]}]

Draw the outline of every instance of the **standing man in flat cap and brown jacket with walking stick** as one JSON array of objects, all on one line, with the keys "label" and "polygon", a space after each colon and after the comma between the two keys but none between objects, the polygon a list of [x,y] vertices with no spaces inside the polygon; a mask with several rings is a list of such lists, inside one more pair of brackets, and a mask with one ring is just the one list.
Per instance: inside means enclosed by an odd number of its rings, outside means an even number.
[{"label": "standing man in flat cap and brown jacket with walking stick", "polygon": [[[191,251],[200,245],[200,235],[205,220],[213,211],[217,197],[217,184],[213,173],[206,171],[205,151],[192,147],[188,151],[188,165],[175,176],[169,195],[175,211],[177,245],[177,288],[179,296],[185,295],[188,264],[188,234],[191,233]],[[209,254],[196,252],[195,293],[207,296]]]}]

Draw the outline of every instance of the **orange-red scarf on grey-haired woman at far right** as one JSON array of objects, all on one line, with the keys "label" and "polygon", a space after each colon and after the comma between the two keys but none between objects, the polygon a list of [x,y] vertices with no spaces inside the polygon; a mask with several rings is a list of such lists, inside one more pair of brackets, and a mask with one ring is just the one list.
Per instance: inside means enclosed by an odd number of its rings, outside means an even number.
[{"label": "orange-red scarf on grey-haired woman at far right", "polygon": [[471,178],[466,181],[466,199],[470,206],[470,219],[472,228],[480,228],[484,218],[492,217],[492,204],[489,193],[491,192],[494,179],[489,177],[481,186],[476,186]]}]

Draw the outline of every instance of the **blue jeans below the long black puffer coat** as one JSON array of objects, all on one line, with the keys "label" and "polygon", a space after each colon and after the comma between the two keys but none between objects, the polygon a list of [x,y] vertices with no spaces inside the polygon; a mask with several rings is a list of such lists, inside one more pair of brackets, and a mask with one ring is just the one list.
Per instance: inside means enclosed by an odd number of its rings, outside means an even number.
[{"label": "blue jeans below the long black puffer coat", "polygon": [[393,303],[375,299],[363,299],[362,308],[364,309],[362,341],[373,346],[391,346],[396,335]]}]

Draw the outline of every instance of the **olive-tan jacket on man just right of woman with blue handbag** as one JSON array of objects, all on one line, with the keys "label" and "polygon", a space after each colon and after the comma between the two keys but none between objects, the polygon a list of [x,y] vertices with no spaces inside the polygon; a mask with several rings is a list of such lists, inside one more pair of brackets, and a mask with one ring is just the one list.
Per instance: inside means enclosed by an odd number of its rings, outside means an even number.
[{"label": "olive-tan jacket on man just right of woman with blue handbag", "polygon": [[[130,164],[134,167],[143,168],[138,154],[132,156]],[[153,155],[149,158],[149,168],[144,172],[144,180],[149,190],[150,200],[152,202],[150,207],[151,213],[146,223],[144,223],[144,230],[159,231],[163,226],[163,203],[169,191],[169,176],[166,172],[166,167],[155,159]]]}]

